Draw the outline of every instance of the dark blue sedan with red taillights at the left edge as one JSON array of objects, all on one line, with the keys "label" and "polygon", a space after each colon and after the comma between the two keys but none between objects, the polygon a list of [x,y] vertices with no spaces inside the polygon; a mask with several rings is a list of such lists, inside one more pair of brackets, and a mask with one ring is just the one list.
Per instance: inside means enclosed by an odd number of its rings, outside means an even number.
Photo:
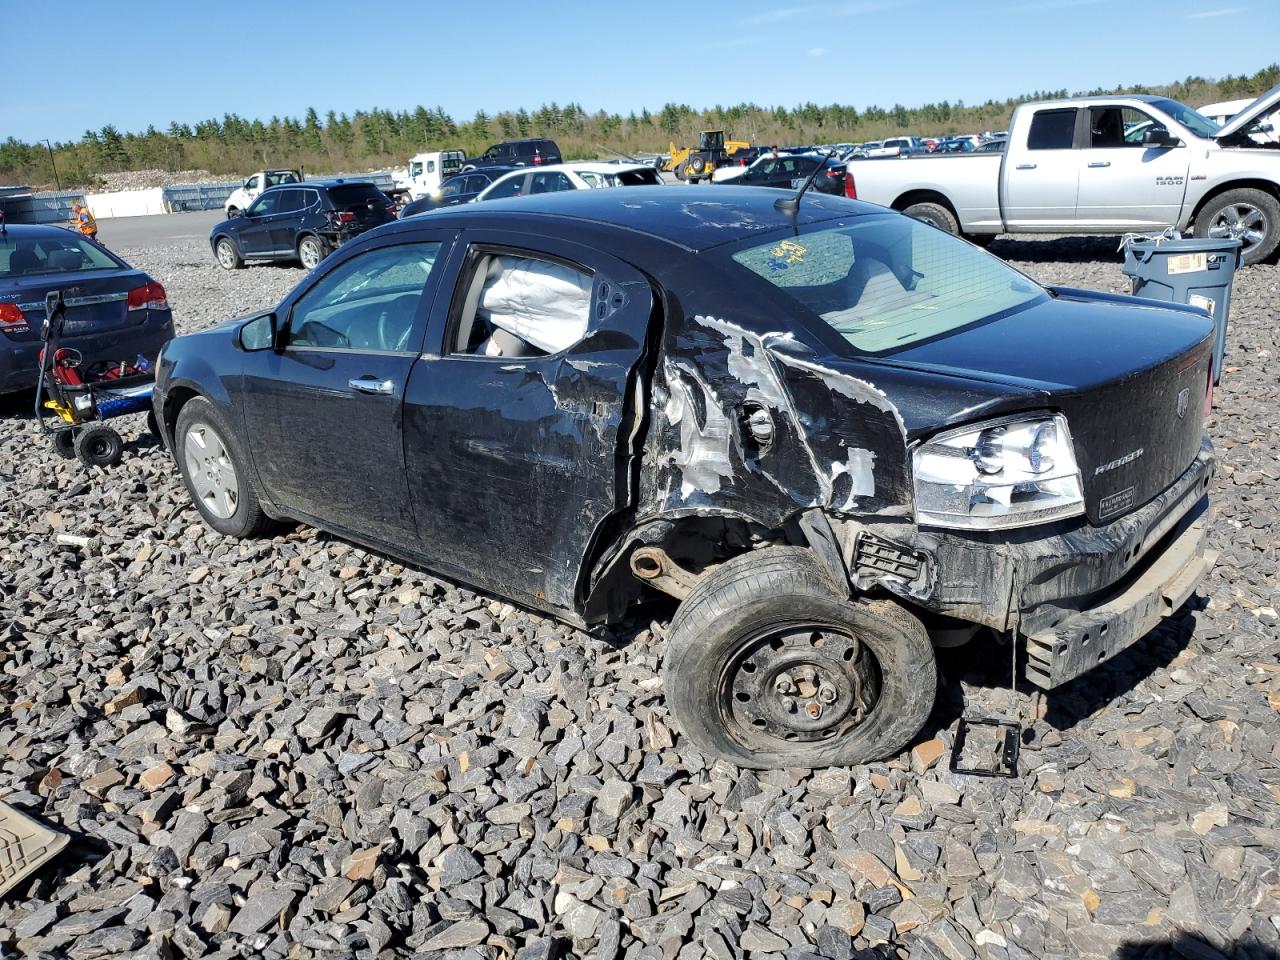
[{"label": "dark blue sedan with red taillights at the left edge", "polygon": [[155,360],[173,338],[164,287],[99,243],[61,227],[0,230],[0,393],[36,385],[45,294],[61,291],[61,346],[83,364]]}]

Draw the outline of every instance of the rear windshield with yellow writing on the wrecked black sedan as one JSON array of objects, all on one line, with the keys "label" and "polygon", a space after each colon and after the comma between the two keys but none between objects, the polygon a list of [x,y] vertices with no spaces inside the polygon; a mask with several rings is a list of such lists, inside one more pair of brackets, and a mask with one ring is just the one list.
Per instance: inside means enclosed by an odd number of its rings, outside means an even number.
[{"label": "rear windshield with yellow writing on the wrecked black sedan", "polygon": [[864,353],[941,337],[1047,296],[996,257],[906,216],[823,224],[731,256]]}]

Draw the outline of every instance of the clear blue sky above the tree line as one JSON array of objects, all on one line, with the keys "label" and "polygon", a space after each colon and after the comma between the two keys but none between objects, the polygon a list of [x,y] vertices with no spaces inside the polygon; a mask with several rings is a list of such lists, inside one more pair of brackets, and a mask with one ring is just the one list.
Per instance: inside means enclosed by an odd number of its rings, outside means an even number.
[{"label": "clear blue sky above the tree line", "polygon": [[1280,3],[0,0],[0,140],[56,141],[312,105],[438,104],[470,119],[576,101],[626,115],[671,100],[914,106],[1220,77],[1280,56]]}]

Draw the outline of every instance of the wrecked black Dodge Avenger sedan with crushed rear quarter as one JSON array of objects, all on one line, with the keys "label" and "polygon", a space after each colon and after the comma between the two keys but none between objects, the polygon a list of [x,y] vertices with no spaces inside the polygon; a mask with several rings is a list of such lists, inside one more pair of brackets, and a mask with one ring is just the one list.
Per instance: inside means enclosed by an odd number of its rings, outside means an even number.
[{"label": "wrecked black Dodge Avenger sedan with crushed rear quarter", "polygon": [[1212,563],[1212,326],[881,207],[572,191],[379,228],[170,342],[205,521],[292,518],[575,625],[680,602],[666,696],[749,767],[902,749],[934,643],[1055,687]]}]

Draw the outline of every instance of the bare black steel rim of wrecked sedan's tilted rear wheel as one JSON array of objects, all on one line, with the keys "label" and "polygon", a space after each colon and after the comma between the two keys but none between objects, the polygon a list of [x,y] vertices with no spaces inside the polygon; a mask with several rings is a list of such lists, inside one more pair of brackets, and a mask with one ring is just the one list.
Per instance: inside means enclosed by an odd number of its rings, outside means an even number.
[{"label": "bare black steel rim of wrecked sedan's tilted rear wheel", "polygon": [[758,750],[822,744],[864,724],[879,704],[879,664],[844,628],[773,627],[726,662],[718,700],[730,735]]}]

